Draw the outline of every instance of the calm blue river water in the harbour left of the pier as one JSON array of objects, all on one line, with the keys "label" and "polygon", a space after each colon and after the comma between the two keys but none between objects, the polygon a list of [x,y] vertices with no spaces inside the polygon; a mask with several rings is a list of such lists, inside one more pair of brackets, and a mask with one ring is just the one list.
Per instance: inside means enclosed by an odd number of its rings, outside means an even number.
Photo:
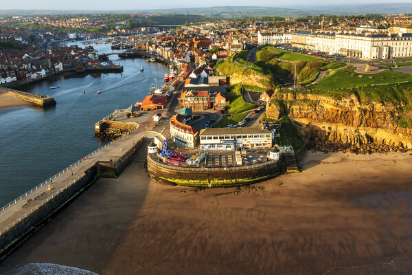
[{"label": "calm blue river water in the harbour left of the pier", "polygon": [[[99,54],[113,52],[110,45],[93,47]],[[57,76],[23,89],[54,96],[56,107],[0,109],[0,207],[104,145],[94,136],[95,122],[141,101],[168,71],[142,58],[111,60],[124,66],[122,75]]]}]

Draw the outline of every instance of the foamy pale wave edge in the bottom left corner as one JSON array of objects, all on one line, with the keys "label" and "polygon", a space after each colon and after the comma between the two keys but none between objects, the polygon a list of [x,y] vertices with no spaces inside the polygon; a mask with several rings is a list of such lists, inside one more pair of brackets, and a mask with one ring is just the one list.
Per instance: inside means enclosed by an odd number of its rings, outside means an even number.
[{"label": "foamy pale wave edge in the bottom left corner", "polygon": [[80,270],[77,267],[56,265],[53,263],[30,263],[1,275],[98,275],[97,273]]}]

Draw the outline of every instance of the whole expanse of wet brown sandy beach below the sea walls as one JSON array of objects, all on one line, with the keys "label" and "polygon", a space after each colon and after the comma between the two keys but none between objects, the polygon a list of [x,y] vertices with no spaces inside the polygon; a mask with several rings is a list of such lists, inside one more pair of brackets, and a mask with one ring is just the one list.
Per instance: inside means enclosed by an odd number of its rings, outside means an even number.
[{"label": "whole expanse of wet brown sandy beach below the sea walls", "polygon": [[240,195],[156,184],[139,160],[144,153],[118,179],[99,179],[0,270],[55,263],[101,275],[412,271],[409,153],[308,153],[302,173]]}]

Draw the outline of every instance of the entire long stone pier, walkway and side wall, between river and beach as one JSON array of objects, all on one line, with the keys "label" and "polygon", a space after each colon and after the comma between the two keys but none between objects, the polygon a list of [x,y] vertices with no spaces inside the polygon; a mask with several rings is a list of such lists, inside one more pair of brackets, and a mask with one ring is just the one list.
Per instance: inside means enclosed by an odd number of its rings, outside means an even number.
[{"label": "entire long stone pier, walkway and side wall, between river and beach", "polygon": [[120,137],[0,208],[0,261],[95,179],[119,175],[143,142],[140,131]]}]

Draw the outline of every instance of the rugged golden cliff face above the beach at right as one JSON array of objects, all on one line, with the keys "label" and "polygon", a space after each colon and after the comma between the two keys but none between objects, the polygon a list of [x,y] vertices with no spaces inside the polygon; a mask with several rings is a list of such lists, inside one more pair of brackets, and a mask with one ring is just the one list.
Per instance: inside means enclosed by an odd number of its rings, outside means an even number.
[{"label": "rugged golden cliff face above the beach at right", "polygon": [[374,142],[412,148],[412,129],[395,122],[400,113],[391,103],[362,104],[356,96],[336,100],[314,94],[275,93],[266,105],[268,118],[283,115],[299,122],[299,131],[316,142],[355,146]]}]

